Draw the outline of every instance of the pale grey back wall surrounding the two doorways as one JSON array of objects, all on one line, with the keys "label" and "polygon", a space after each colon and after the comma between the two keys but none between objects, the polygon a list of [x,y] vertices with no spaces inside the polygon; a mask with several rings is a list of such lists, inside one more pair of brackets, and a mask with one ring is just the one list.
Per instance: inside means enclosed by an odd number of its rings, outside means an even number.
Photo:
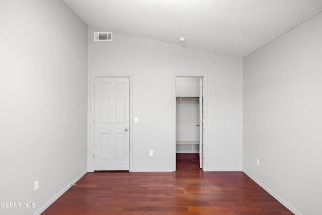
[{"label": "pale grey back wall surrounding the two doorways", "polygon": [[94,31],[89,28],[89,76],[132,75],[131,117],[139,118],[130,129],[132,171],[175,166],[175,74],[207,75],[206,169],[242,169],[243,59],[115,32],[113,42],[94,42]]}]

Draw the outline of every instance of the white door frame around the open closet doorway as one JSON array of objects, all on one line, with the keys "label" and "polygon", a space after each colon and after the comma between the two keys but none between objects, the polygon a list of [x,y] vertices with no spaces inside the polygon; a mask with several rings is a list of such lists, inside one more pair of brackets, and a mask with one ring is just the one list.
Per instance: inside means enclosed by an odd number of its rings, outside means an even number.
[{"label": "white door frame around the open closet doorway", "polygon": [[183,78],[202,78],[203,79],[203,156],[202,156],[202,170],[207,171],[207,75],[173,75],[173,161],[172,168],[176,171],[177,166],[177,153],[176,153],[176,79],[177,77]]}]

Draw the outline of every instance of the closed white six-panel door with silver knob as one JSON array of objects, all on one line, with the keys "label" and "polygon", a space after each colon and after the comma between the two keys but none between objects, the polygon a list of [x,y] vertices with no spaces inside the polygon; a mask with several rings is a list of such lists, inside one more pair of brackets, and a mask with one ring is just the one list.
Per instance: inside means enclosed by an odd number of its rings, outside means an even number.
[{"label": "closed white six-panel door with silver knob", "polygon": [[129,78],[95,78],[94,170],[129,170]]}]

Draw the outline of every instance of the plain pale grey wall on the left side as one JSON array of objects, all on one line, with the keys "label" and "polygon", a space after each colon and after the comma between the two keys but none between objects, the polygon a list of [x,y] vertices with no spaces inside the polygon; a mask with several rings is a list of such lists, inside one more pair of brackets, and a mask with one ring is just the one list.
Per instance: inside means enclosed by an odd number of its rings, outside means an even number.
[{"label": "plain pale grey wall on the left side", "polygon": [[56,0],[1,1],[0,26],[0,202],[31,206],[0,214],[34,214],[87,171],[87,26]]}]

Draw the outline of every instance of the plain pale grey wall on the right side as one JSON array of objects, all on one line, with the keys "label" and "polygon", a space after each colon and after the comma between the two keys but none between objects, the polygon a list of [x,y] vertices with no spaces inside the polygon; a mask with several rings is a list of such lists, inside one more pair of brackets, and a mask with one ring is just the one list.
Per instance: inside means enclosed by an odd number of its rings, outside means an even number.
[{"label": "plain pale grey wall on the right side", "polygon": [[244,59],[243,168],[296,214],[322,211],[321,23],[318,14]]}]

